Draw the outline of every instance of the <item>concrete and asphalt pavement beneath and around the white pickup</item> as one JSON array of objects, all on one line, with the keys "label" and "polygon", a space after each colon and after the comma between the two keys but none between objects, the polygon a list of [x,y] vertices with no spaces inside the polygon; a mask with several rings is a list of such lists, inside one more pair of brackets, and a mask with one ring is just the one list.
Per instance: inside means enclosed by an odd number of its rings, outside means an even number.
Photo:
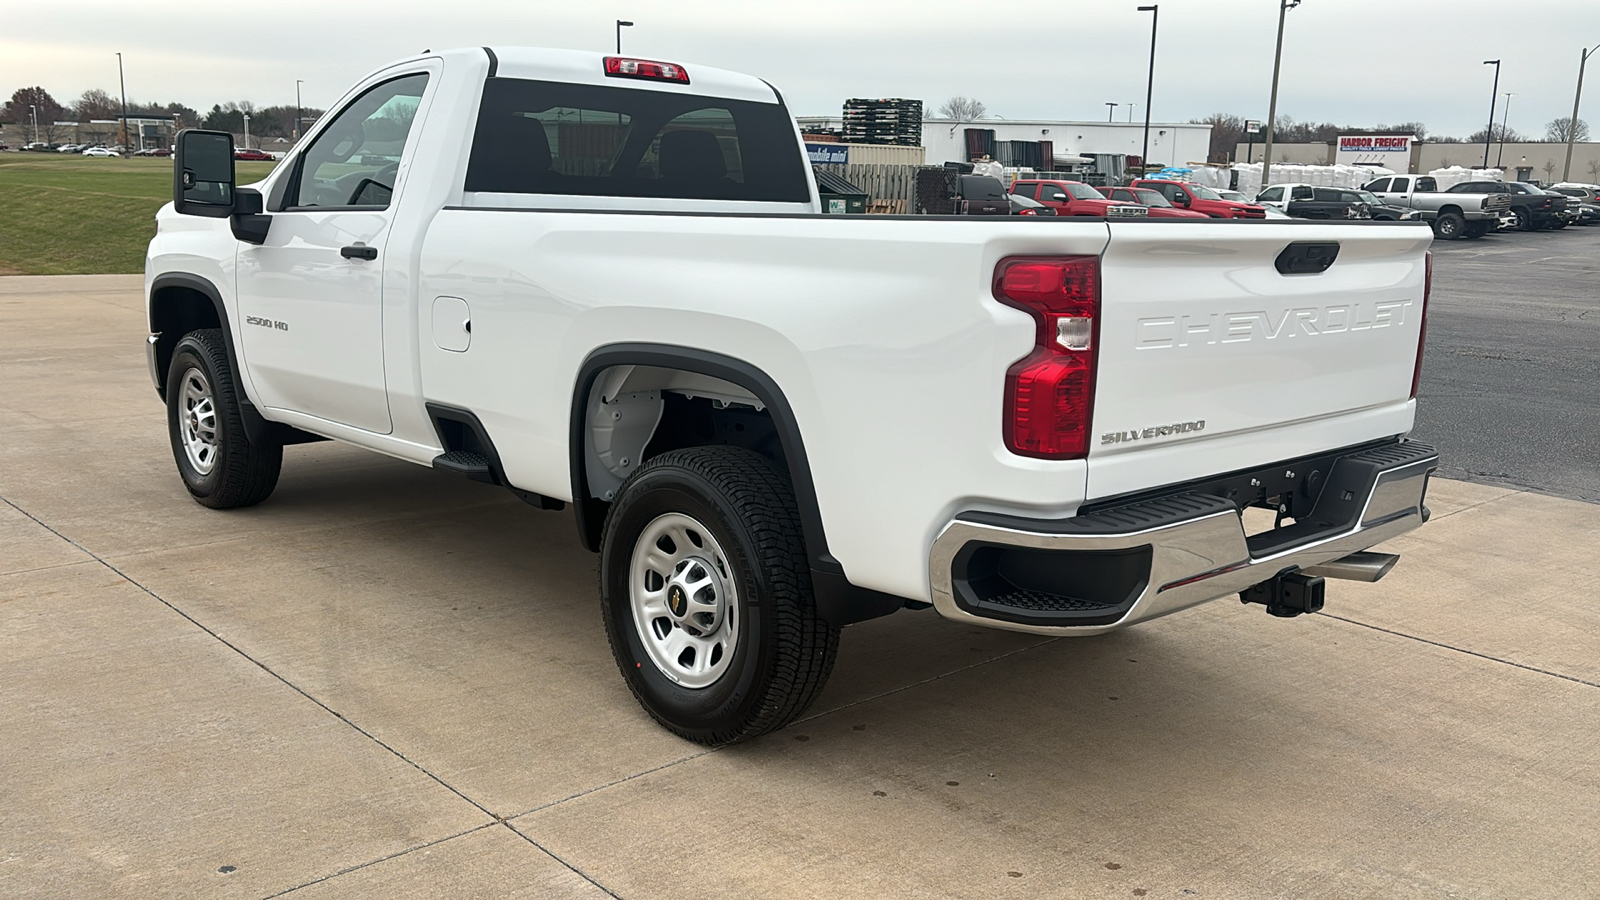
[{"label": "concrete and asphalt pavement beneath and around the white pickup", "polygon": [[1592,895],[1597,245],[1435,247],[1450,479],[1382,583],[1082,641],[899,612],[717,751],[622,685],[570,512],[336,444],[203,509],[139,277],[0,279],[0,895]]}]

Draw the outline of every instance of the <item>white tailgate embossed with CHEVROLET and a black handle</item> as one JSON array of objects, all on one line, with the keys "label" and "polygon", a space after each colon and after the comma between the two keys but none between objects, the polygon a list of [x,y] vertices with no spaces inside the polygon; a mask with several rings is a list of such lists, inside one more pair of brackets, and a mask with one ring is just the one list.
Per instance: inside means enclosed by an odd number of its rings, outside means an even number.
[{"label": "white tailgate embossed with CHEVROLET and a black handle", "polygon": [[[1112,223],[1088,498],[1410,431],[1421,224]],[[1338,243],[1280,274],[1290,245]]]}]

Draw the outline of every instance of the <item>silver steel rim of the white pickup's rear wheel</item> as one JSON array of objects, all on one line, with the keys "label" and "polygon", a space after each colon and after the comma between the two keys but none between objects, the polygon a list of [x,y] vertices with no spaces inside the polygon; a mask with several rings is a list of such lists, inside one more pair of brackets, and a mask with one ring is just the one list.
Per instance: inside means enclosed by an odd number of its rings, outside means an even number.
[{"label": "silver steel rim of the white pickup's rear wheel", "polygon": [[728,671],[739,642],[739,597],[728,556],[706,525],[682,512],[645,525],[627,591],[634,628],[661,674],[702,689]]}]

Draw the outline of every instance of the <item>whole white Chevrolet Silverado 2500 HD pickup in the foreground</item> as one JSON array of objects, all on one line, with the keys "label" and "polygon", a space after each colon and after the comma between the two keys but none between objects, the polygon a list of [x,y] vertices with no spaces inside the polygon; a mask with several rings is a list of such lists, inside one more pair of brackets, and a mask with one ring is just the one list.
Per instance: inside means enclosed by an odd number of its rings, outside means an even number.
[{"label": "whole white Chevrolet Silverado 2500 HD pickup in the foreground", "polygon": [[792,721],[853,621],[1290,617],[1427,519],[1421,224],[819,215],[766,82],[555,50],[387,66],[251,187],[222,133],[174,163],[149,360],[195,500],[334,439],[571,504],[696,741]]}]

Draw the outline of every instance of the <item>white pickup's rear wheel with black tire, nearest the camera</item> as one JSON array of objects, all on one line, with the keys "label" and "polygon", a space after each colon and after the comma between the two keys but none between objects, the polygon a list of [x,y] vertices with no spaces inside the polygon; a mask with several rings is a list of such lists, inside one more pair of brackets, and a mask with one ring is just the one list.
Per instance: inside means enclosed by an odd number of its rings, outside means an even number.
[{"label": "white pickup's rear wheel with black tire, nearest the camera", "polygon": [[[733,649],[715,681],[698,687],[685,687],[653,653],[670,639],[685,641],[678,631],[707,637],[685,629],[688,618],[672,621],[666,612],[637,618],[632,593],[635,554],[651,552],[648,535],[661,522],[685,517],[709,532],[709,541],[690,538],[694,552],[706,554],[696,559],[715,557],[725,578],[717,583],[722,597],[728,586],[734,594],[731,612],[723,610],[710,629],[712,636],[731,634]],[[611,655],[656,722],[696,743],[725,745],[778,730],[816,700],[834,669],[838,629],[818,617],[794,487],[770,460],[736,447],[693,447],[648,460],[618,490],[600,544],[600,610]],[[677,562],[672,572],[685,565],[691,560]],[[650,564],[642,570],[640,583],[658,585],[666,610],[686,609],[682,593],[674,599],[670,585],[650,575]],[[646,649],[642,633],[653,634],[654,649]]]}]

